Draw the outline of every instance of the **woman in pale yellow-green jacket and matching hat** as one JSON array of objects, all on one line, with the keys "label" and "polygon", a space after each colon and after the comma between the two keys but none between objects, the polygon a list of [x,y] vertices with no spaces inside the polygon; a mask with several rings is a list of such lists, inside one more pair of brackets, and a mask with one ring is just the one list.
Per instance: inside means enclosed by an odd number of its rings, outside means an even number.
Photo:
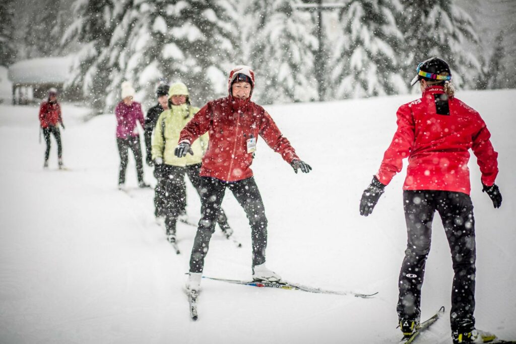
[{"label": "woman in pale yellow-green jacket and matching hat", "polygon": [[[204,134],[191,146],[191,153],[185,158],[174,155],[174,149],[179,141],[183,127],[199,111],[191,106],[188,88],[183,83],[174,83],[168,92],[168,110],[163,111],[156,122],[152,143],[152,159],[154,160],[155,176],[158,185],[162,184],[165,199],[165,226],[167,240],[175,242],[175,226],[186,198],[184,174],[190,179],[193,187],[200,195],[201,180],[199,171],[206,149],[208,148],[208,133]],[[229,238],[233,230],[228,224],[224,210],[220,209],[217,222]]]}]

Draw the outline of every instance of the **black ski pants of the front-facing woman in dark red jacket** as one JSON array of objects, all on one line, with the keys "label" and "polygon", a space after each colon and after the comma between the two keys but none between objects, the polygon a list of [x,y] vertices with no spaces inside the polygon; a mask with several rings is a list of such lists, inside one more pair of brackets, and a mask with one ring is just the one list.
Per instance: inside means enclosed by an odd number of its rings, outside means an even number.
[{"label": "black ski pants of the front-facing woman in dark red jacket", "polygon": [[202,272],[204,258],[208,252],[209,239],[215,231],[219,216],[220,205],[224,198],[225,189],[233,192],[238,203],[244,208],[251,225],[252,265],[265,263],[265,248],[267,247],[267,218],[260,191],[250,177],[237,182],[224,182],[217,178],[201,178],[201,219],[197,234],[193,241],[190,256],[190,272]]}]

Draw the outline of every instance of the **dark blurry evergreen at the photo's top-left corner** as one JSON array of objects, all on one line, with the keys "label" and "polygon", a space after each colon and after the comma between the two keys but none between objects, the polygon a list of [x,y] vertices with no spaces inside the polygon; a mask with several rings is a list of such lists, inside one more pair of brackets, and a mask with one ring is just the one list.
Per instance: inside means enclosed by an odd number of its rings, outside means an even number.
[{"label": "dark blurry evergreen at the photo's top-left corner", "polygon": [[0,65],[7,67],[16,56],[14,44],[14,0],[0,2]]}]

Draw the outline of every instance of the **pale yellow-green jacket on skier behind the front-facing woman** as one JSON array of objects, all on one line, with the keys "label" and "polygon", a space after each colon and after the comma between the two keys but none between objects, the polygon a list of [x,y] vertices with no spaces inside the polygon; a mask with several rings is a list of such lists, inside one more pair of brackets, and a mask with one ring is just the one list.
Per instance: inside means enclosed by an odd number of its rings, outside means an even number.
[{"label": "pale yellow-green jacket on skier behind the front-facing woman", "polygon": [[174,155],[174,149],[178,145],[179,134],[183,127],[190,121],[198,107],[188,104],[172,105],[171,109],[163,111],[156,122],[152,140],[152,159],[163,158],[166,165],[188,166],[202,161],[202,157],[208,148],[208,133],[193,142],[191,148],[193,155],[186,154],[184,158]]}]

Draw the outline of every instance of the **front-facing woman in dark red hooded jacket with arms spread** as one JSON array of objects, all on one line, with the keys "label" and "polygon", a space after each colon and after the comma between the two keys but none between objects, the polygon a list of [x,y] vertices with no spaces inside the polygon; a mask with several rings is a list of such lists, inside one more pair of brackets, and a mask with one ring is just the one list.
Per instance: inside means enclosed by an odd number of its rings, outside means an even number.
[{"label": "front-facing woman in dark red hooded jacket with arms spread", "polygon": [[204,105],[182,130],[175,155],[191,153],[190,145],[209,133],[209,145],[201,167],[201,220],[190,257],[189,290],[198,290],[215,230],[217,215],[225,189],[230,189],[244,208],[252,230],[252,271],[256,281],[277,282],[281,277],[265,267],[267,218],[260,191],[251,171],[256,140],[261,136],[275,152],[304,173],[312,169],[296,155],[290,142],[263,107],[251,102],[254,72],[245,65],[235,67],[229,75],[227,97]]}]

